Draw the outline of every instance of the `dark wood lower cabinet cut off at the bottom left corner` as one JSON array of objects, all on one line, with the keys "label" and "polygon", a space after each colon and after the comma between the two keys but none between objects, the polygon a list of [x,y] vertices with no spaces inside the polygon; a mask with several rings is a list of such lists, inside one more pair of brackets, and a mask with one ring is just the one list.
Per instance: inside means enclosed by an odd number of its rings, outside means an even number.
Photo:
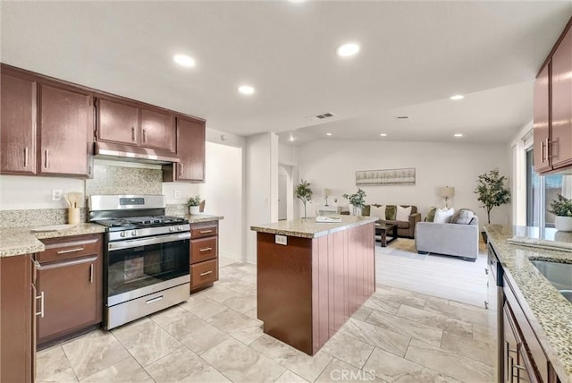
[{"label": "dark wood lower cabinet cut off at the bottom left corner", "polygon": [[34,381],[34,263],[30,254],[0,259],[0,381]]}]

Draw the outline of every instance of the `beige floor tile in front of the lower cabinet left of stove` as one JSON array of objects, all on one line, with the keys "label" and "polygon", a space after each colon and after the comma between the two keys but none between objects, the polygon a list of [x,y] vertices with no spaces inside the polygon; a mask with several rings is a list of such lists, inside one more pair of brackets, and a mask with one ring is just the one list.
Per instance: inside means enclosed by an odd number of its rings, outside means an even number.
[{"label": "beige floor tile in front of the lower cabinet left of stove", "polygon": [[71,368],[80,380],[130,357],[115,336],[104,330],[81,336],[63,345],[62,348],[70,361]]}]

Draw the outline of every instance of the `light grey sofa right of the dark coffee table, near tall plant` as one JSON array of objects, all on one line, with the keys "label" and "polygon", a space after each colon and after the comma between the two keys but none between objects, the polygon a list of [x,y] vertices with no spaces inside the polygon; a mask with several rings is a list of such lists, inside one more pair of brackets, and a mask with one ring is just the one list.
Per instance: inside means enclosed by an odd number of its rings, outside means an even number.
[{"label": "light grey sofa right of the dark coffee table, near tall plant", "polygon": [[[462,210],[459,210],[462,215]],[[452,216],[450,222],[417,222],[415,236],[419,254],[442,254],[475,261],[479,255],[479,220],[473,217],[459,219]]]}]

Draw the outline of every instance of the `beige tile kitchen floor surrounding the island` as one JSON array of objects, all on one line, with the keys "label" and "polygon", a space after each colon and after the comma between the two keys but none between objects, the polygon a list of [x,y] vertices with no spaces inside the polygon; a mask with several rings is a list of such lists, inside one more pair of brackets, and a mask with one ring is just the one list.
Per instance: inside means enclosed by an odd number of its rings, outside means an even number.
[{"label": "beige tile kitchen floor surrounding the island", "polygon": [[308,356],[256,319],[256,266],[231,263],[213,288],[111,332],[38,353],[38,382],[492,382],[494,337],[482,308],[377,285]]}]

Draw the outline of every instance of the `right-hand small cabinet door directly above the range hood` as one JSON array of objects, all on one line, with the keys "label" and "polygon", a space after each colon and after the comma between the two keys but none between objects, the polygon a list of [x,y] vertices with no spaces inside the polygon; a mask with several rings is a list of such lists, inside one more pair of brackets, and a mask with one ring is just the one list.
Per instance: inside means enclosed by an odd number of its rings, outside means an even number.
[{"label": "right-hand small cabinet door directly above the range hood", "polygon": [[174,152],[174,117],[158,110],[141,108],[141,146]]}]

